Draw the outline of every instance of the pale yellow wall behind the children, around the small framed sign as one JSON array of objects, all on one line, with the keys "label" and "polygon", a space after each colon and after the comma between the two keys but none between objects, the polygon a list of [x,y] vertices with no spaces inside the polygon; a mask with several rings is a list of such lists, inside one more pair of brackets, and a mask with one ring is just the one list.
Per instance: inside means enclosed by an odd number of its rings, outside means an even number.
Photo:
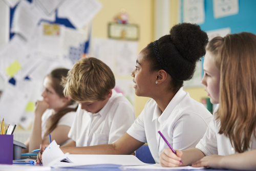
[{"label": "pale yellow wall behind the children, around the small framed sign", "polygon": [[[154,41],[154,1],[153,0],[98,0],[103,8],[93,19],[93,37],[108,37],[108,23],[114,22],[114,17],[121,9],[125,9],[129,14],[129,23],[138,24],[140,27],[140,37],[138,40],[138,54],[147,46],[148,43]],[[178,0],[170,0],[170,27],[178,23]],[[116,76],[116,78],[131,79],[130,76]],[[204,88],[184,89],[192,98],[201,101],[202,97],[206,97],[207,93]],[[135,114],[136,117],[144,108],[147,97],[135,98]]]}]

